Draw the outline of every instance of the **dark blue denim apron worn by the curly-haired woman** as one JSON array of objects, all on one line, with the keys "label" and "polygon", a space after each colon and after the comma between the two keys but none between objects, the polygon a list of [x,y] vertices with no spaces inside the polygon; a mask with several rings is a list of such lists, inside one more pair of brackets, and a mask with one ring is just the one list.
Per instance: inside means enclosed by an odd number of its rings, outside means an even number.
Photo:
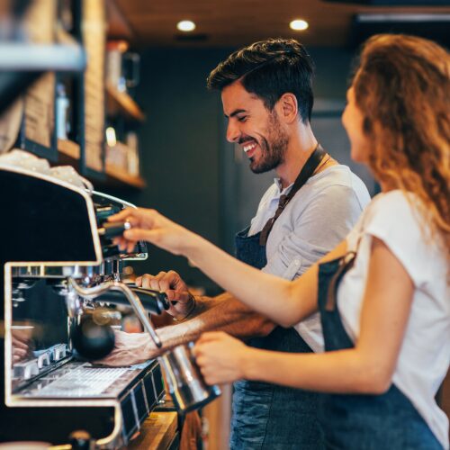
[{"label": "dark blue denim apron worn by the curly-haired woman", "polygon": [[[348,253],[319,267],[319,310],[325,351],[355,347],[338,311],[338,284],[353,266]],[[345,450],[442,450],[410,400],[394,385],[382,395],[322,394],[320,424],[327,448]]]}]

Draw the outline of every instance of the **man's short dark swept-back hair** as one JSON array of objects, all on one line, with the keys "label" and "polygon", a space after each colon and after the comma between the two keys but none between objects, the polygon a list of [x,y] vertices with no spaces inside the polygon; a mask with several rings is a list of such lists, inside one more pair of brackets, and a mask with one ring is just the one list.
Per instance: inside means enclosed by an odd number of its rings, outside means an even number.
[{"label": "man's short dark swept-back hair", "polygon": [[222,90],[241,79],[248,93],[257,94],[269,111],[285,93],[297,98],[302,122],[311,121],[314,64],[297,40],[268,39],[239,49],[220,62],[207,79],[208,89]]}]

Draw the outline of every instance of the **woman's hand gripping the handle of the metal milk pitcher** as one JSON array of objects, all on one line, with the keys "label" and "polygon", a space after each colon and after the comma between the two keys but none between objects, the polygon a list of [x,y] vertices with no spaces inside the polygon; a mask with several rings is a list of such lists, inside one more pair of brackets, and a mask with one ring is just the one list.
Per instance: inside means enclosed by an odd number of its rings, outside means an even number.
[{"label": "woman's hand gripping the handle of the metal milk pitcher", "polygon": [[223,331],[203,333],[193,356],[208,384],[231,383],[245,378],[245,362],[251,349]]}]

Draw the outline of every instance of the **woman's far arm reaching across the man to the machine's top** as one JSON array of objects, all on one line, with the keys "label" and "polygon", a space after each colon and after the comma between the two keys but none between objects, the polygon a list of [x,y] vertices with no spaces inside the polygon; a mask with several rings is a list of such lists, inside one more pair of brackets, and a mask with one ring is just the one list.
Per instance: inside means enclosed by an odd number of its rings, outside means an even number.
[{"label": "woman's far arm reaching across the man to the machine's top", "polygon": [[[239,262],[157,211],[128,209],[110,220],[128,220],[132,225],[123,238],[115,240],[121,248],[132,250],[138,240],[144,239],[175,255],[184,255],[241,302],[280,325],[293,326],[317,310],[317,265],[289,282]],[[346,247],[341,243],[323,260],[344,255]]]}]

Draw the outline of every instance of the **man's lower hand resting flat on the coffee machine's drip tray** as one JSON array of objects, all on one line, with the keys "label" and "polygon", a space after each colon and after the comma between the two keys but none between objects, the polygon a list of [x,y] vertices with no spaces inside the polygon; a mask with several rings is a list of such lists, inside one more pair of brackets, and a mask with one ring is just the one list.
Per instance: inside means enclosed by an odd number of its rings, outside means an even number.
[{"label": "man's lower hand resting flat on the coffee machine's drip tray", "polygon": [[125,333],[114,330],[115,345],[112,352],[95,363],[120,367],[137,365],[159,355],[159,350],[147,333]]}]

